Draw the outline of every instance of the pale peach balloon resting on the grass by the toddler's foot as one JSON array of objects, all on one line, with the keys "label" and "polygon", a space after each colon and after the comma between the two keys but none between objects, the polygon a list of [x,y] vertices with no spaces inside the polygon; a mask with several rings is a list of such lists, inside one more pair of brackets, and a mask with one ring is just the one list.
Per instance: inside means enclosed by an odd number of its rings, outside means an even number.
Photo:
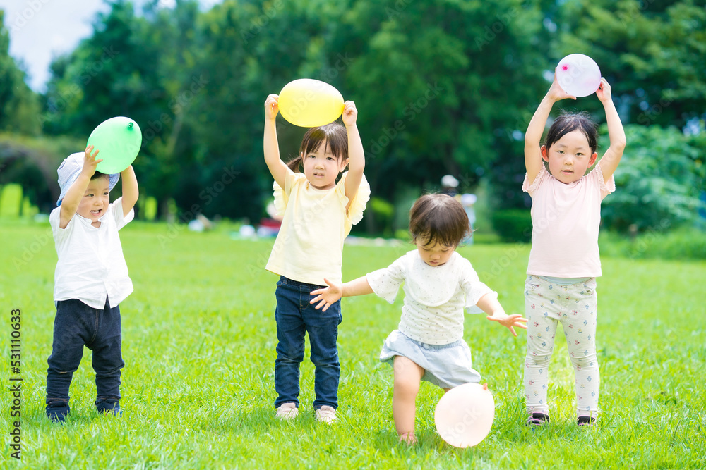
[{"label": "pale peach balloon resting on the grass by the toddler's foot", "polygon": [[495,400],[479,383],[466,383],[445,393],[434,412],[436,431],[454,447],[477,445],[495,418]]}]

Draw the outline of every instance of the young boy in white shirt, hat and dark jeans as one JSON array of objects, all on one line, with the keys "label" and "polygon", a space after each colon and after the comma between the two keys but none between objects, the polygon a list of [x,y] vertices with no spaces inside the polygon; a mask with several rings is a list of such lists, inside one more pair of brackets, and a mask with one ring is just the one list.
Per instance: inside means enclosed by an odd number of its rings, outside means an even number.
[{"label": "young boy in white shirt, hat and dark jeans", "polygon": [[133,291],[118,230],[135,213],[138,185],[132,166],[120,173],[123,196],[109,204],[119,174],[95,171],[98,151],[69,155],[59,166],[61,195],[49,216],[56,253],[54,342],[47,371],[47,417],[63,422],[68,388],[83,346],[93,351],[98,412],[120,414],[121,355],[118,304]]}]

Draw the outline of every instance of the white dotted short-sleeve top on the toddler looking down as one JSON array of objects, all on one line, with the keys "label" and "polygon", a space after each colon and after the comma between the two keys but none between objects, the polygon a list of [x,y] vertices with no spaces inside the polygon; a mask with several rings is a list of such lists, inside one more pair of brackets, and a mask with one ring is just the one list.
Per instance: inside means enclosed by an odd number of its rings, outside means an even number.
[{"label": "white dotted short-sleeve top on the toddler looking down", "polygon": [[481,297],[493,294],[481,283],[470,261],[454,252],[441,266],[429,266],[414,249],[387,268],[366,275],[373,292],[393,303],[400,285],[405,292],[402,317],[397,327],[413,340],[448,345],[463,338],[463,311]]}]

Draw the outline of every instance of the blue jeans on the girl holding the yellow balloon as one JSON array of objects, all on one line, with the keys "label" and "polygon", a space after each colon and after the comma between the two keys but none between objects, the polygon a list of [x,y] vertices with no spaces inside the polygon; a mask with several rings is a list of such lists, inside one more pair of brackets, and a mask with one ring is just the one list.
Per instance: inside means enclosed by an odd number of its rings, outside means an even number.
[{"label": "blue jeans on the girl holding the yellow balloon", "polygon": [[313,390],[314,409],[323,405],[338,407],[338,325],[341,323],[340,300],[326,311],[317,310],[309,301],[312,290],[321,285],[299,283],[280,276],[277,282],[277,359],[275,360],[275,407],[292,402],[299,407],[299,364],[304,360],[304,333],[309,333],[311,362],[316,366]]}]

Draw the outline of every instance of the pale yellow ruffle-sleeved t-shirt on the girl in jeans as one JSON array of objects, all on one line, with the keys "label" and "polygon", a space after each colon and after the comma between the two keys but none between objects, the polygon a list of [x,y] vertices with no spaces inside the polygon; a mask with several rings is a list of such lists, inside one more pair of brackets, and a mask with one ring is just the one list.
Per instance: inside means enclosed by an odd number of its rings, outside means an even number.
[{"label": "pale yellow ruffle-sleeved t-shirt on the girl in jeans", "polygon": [[300,283],[341,282],[343,240],[363,218],[370,185],[363,176],[346,214],[348,198],[343,173],[330,190],[313,187],[303,173],[289,171],[285,188],[274,183],[275,209],[283,216],[280,232],[265,269]]}]

